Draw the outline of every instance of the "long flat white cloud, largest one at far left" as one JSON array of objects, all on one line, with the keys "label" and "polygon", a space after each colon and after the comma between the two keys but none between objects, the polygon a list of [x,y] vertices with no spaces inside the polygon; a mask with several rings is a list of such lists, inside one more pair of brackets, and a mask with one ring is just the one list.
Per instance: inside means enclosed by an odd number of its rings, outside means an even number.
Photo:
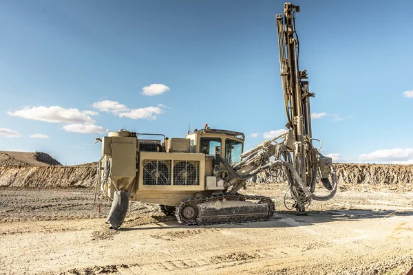
[{"label": "long flat white cloud, largest one at far left", "polygon": [[94,120],[89,115],[78,109],[65,109],[59,106],[52,107],[24,107],[20,111],[8,111],[8,115],[19,116],[28,120],[40,120],[52,123],[85,123],[93,124]]}]

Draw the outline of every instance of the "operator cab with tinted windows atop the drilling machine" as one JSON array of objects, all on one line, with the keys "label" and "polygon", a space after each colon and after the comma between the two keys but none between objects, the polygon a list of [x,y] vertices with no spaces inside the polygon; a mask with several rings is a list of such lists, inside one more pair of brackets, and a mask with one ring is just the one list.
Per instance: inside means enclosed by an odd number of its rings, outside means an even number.
[{"label": "operator cab with tinted windows atop the drilling machine", "polygon": [[240,155],[244,150],[245,135],[241,132],[209,129],[208,124],[204,129],[188,133],[190,153],[202,153],[213,155],[215,146],[221,146],[222,157],[226,162],[233,165],[240,162]]}]

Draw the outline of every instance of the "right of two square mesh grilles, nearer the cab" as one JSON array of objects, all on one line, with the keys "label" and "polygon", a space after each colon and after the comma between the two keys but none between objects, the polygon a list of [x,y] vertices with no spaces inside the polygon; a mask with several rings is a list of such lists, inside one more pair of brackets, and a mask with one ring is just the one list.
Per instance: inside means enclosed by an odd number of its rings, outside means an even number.
[{"label": "right of two square mesh grilles, nearer the cab", "polygon": [[198,161],[173,162],[173,185],[200,185],[199,169]]}]

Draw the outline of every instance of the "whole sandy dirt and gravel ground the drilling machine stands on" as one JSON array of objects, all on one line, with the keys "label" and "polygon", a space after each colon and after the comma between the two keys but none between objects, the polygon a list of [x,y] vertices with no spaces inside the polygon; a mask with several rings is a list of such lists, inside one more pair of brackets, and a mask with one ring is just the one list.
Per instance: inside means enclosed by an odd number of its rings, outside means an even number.
[{"label": "whole sandy dirt and gravel ground the drilling machine stands on", "polygon": [[249,186],[277,203],[270,221],[198,227],[134,202],[118,231],[92,190],[1,189],[0,274],[405,274],[413,192],[370,187],[343,187],[298,217],[284,185]]}]

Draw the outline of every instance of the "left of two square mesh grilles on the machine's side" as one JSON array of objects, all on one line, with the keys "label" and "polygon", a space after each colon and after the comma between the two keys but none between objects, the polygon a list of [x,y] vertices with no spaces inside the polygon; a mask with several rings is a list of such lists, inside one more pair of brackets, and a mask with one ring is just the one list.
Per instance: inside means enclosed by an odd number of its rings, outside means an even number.
[{"label": "left of two square mesh grilles on the machine's side", "polygon": [[170,185],[171,161],[145,159],[143,165],[144,185]]}]

